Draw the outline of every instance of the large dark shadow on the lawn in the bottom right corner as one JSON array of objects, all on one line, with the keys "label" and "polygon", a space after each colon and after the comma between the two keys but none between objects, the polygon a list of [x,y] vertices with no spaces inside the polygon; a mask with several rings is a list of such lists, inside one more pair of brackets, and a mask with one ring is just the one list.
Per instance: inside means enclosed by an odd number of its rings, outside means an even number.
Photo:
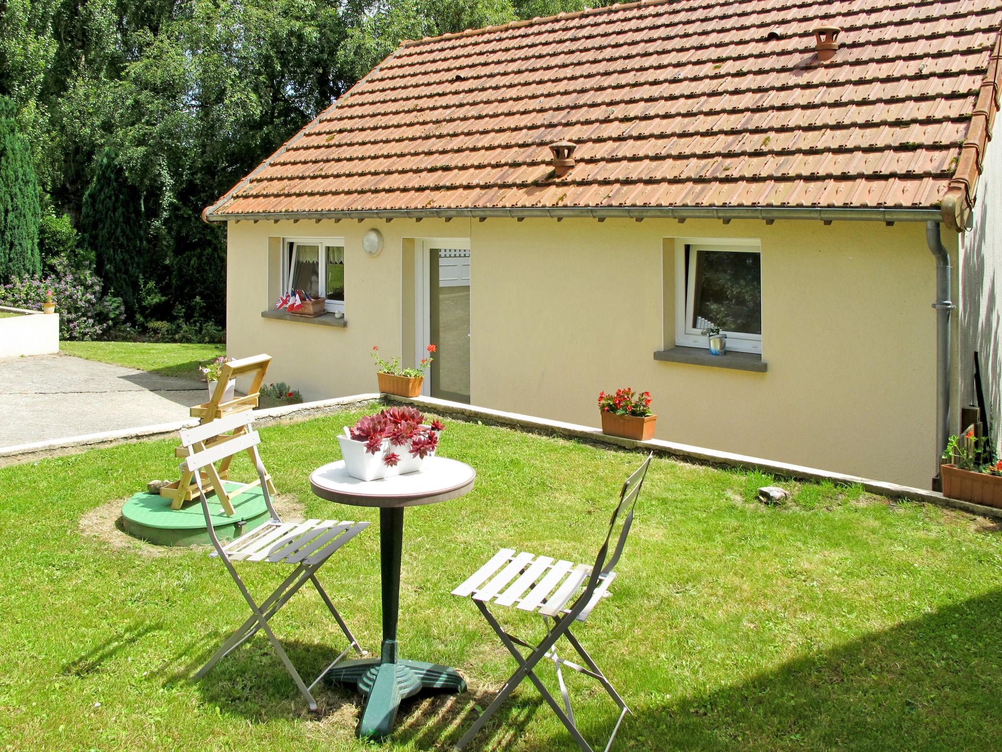
[{"label": "large dark shadow on the lawn in the bottom right corner", "polygon": [[995,591],[742,684],[639,709],[621,733],[650,750],[987,751],[1002,735],[999,697]]}]

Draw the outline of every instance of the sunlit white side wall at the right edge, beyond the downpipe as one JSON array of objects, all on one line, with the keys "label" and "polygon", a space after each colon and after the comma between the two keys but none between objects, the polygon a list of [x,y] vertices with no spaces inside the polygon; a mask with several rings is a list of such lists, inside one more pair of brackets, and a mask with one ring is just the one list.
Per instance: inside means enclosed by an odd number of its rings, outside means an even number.
[{"label": "sunlit white side wall at the right edge, beyond the downpipe", "polygon": [[[992,440],[999,447],[1002,423],[1002,144],[990,141],[984,171],[978,180],[974,212],[959,239],[958,378],[960,405],[977,404],[974,353],[981,362],[981,380]],[[959,416],[958,416],[959,417]],[[951,431],[962,428],[951,424]]]}]

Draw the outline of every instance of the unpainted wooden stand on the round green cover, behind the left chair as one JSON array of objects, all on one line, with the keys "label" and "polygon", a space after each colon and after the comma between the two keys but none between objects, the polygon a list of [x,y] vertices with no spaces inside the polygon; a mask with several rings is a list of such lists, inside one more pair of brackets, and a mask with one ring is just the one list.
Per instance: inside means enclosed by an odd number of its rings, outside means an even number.
[{"label": "unpainted wooden stand on the round green cover, behind the left chair", "polygon": [[[255,355],[250,358],[231,360],[228,363],[223,364],[218,382],[215,385],[215,390],[212,392],[211,398],[208,402],[203,402],[200,405],[195,405],[190,408],[188,412],[191,417],[198,418],[199,425],[206,425],[207,423],[219,420],[228,415],[246,412],[256,408],[258,406],[261,385],[265,380],[265,374],[268,371],[268,366],[271,362],[271,355]],[[247,390],[247,393],[242,397],[234,397],[231,400],[222,402],[222,398],[226,392],[226,385],[229,383],[229,380],[234,379],[237,376],[244,376],[247,374],[252,375],[250,388]],[[243,427],[238,425],[233,430],[236,435],[239,435],[242,433]],[[209,439],[208,444],[210,445],[212,441],[212,439]],[[194,447],[196,451],[204,448],[206,448],[205,445]],[[189,449],[187,447],[179,446],[174,450],[174,454],[178,457],[183,457],[188,451]],[[205,468],[201,476],[201,480],[203,482],[207,482],[211,485],[216,498],[218,498],[222,503],[223,511],[225,511],[226,514],[233,513],[231,499],[234,496],[257,487],[260,482],[256,480],[250,483],[240,484],[235,489],[227,489],[222,481],[229,478],[229,463],[231,461],[231,456],[225,457],[219,463],[218,469],[216,469],[213,465],[209,465]],[[272,481],[272,476],[265,473],[265,478],[268,482],[268,489],[272,493],[275,493],[275,483]],[[180,509],[185,501],[190,501],[198,495],[198,485],[192,482],[192,473],[185,470],[181,472],[180,480],[161,488],[160,495],[170,499],[171,509]]]}]

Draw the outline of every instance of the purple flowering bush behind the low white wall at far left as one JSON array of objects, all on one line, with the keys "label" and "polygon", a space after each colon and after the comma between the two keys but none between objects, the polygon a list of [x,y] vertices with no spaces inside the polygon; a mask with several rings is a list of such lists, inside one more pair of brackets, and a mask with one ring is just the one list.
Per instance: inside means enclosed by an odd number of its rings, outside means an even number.
[{"label": "purple flowering bush behind the low white wall at far left", "polygon": [[101,280],[89,264],[56,259],[53,274],[14,278],[0,286],[0,305],[42,310],[49,291],[59,314],[59,339],[99,340],[125,321],[121,298],[101,294]]}]

